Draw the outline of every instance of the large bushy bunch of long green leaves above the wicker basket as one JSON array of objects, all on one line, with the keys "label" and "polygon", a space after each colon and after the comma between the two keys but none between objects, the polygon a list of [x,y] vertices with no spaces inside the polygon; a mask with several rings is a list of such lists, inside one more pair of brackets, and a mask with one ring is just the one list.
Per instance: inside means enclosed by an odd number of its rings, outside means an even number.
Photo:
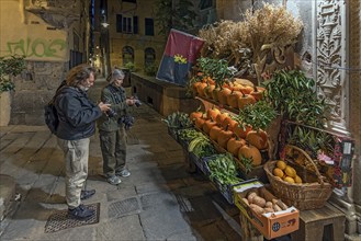
[{"label": "large bushy bunch of long green leaves above the wicker basket", "polygon": [[264,82],[264,96],[284,119],[295,124],[287,134],[287,142],[317,157],[319,150],[332,153],[335,140],[325,124],[329,106],[317,96],[315,80],[300,70],[278,70]]}]

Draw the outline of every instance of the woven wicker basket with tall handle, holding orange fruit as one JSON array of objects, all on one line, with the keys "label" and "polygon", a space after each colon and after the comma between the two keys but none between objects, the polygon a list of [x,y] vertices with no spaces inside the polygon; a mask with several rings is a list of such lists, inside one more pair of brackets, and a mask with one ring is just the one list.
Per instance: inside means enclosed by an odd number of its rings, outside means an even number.
[{"label": "woven wicker basket with tall handle, holding orange fruit", "polygon": [[277,161],[267,162],[264,164],[264,171],[275,196],[280,197],[285,204],[293,205],[300,210],[321,208],[332,193],[331,184],[325,181],[325,177],[320,175],[312,158],[304,150],[290,145],[286,147],[302,153],[305,160],[314,165],[316,174],[304,167],[287,161],[287,164],[292,165],[304,181],[302,184],[287,183],[272,174]]}]

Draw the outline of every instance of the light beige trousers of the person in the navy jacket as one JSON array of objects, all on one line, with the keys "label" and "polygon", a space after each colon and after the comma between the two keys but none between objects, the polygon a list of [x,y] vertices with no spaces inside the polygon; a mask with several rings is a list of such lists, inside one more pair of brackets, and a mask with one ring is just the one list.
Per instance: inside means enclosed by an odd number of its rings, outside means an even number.
[{"label": "light beige trousers of the person in the navy jacket", "polygon": [[80,205],[80,193],[88,177],[89,144],[90,138],[80,140],[58,138],[58,145],[65,156],[65,188],[69,208]]}]

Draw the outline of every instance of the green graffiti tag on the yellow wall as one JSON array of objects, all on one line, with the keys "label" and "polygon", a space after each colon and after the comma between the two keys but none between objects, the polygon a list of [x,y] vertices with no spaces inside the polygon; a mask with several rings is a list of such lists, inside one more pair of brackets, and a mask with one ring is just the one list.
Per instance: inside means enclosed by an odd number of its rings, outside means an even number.
[{"label": "green graffiti tag on the yellow wall", "polygon": [[47,41],[44,38],[36,38],[32,41],[30,37],[20,39],[19,42],[8,42],[8,53],[11,55],[20,55],[25,57],[50,57],[61,58],[60,53],[66,48],[64,39]]}]

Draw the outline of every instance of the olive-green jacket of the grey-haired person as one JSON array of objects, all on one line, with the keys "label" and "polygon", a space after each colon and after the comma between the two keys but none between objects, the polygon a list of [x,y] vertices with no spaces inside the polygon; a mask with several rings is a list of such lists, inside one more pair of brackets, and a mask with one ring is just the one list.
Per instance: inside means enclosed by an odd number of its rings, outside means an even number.
[{"label": "olive-green jacket of the grey-haired person", "polygon": [[119,124],[119,119],[125,115],[128,110],[124,88],[108,84],[102,90],[101,101],[106,104],[111,104],[111,108],[116,113],[116,115],[109,117],[103,114],[98,120],[98,128],[103,131],[116,131],[122,125]]}]

